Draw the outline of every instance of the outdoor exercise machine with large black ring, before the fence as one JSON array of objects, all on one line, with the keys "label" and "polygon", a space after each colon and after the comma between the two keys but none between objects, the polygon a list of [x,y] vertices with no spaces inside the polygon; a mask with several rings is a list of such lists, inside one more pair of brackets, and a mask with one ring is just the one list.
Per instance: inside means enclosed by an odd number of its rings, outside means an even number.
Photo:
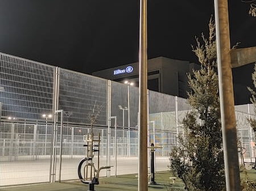
[{"label": "outdoor exercise machine with large black ring, before the fence", "polygon": [[[84,184],[89,184],[89,190],[88,191],[95,191],[94,185],[99,184],[99,176],[100,171],[102,169],[109,169],[110,166],[100,167],[100,133],[98,134],[98,138],[94,139],[93,133],[88,133],[87,135],[84,135],[84,142],[86,145],[84,147],[87,147],[86,157],[82,159],[79,163],[78,167],[78,175],[79,179]],[[98,168],[96,169],[93,163],[94,158],[94,152],[98,152]],[[81,168],[82,164],[84,164],[84,177],[82,177],[81,174]],[[90,167],[88,169],[88,167]],[[89,170],[89,171],[88,171]],[[88,176],[89,172],[89,176]]]}]

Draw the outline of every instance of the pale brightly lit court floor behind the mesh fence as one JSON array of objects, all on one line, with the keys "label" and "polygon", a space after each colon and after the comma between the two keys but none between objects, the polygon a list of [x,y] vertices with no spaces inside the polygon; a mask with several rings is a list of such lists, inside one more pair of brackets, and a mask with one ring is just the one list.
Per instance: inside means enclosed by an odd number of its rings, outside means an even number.
[{"label": "pale brightly lit court floor behind the mesh fence", "polygon": [[[61,165],[61,180],[77,179],[77,166],[81,158],[63,159]],[[97,160],[96,160],[97,165]],[[156,158],[156,171],[167,171],[168,158]],[[106,158],[101,158],[100,166],[106,165]],[[111,165],[114,165],[112,159]],[[6,161],[0,162],[0,186],[31,184],[49,181],[49,159]],[[118,158],[117,175],[138,173],[138,158]],[[115,167],[111,169],[112,176],[115,175]],[[106,176],[102,170],[101,176]],[[57,160],[56,180],[59,180],[59,160]]]}]

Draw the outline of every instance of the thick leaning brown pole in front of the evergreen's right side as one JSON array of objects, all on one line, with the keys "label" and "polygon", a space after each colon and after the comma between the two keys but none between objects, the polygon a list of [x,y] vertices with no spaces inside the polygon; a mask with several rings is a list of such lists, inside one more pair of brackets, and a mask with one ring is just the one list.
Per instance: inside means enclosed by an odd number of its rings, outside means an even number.
[{"label": "thick leaning brown pole in front of the evergreen's right side", "polygon": [[230,63],[228,0],[214,0],[214,6],[226,190],[237,191],[241,190],[241,186],[237,151],[236,115],[234,112],[234,92]]}]

